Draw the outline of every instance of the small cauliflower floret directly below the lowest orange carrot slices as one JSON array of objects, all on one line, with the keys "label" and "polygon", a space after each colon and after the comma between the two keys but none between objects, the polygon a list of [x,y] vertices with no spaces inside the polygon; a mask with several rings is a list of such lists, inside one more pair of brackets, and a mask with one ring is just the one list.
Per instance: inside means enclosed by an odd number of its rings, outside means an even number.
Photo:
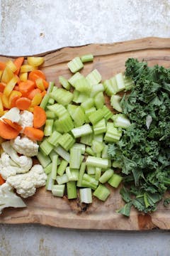
[{"label": "small cauliflower floret directly below the lowest orange carrot slices", "polygon": [[16,137],[16,139],[11,140],[11,146],[18,153],[24,154],[25,156],[38,155],[38,144],[33,142],[31,139],[28,139],[28,137]]}]

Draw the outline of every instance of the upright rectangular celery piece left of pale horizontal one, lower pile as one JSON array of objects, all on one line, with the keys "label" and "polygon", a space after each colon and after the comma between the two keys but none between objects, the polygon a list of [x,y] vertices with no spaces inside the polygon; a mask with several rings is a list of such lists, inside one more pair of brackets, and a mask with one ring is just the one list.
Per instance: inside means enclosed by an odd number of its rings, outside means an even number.
[{"label": "upright rectangular celery piece left of pale horizontal one, lower pile", "polygon": [[69,166],[72,169],[79,169],[80,164],[81,164],[81,149],[72,147],[72,149],[70,149]]}]

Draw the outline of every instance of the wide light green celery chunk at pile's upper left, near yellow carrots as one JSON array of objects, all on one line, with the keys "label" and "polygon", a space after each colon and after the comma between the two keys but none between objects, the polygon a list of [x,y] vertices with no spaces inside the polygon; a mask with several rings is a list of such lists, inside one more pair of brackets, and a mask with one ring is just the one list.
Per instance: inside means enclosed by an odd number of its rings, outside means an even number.
[{"label": "wide light green celery chunk at pile's upper left, near yellow carrots", "polygon": [[65,106],[65,105],[68,105],[70,102],[72,102],[73,94],[72,92],[64,90],[63,88],[59,88],[55,93],[50,92],[50,97],[55,99],[57,103]]}]

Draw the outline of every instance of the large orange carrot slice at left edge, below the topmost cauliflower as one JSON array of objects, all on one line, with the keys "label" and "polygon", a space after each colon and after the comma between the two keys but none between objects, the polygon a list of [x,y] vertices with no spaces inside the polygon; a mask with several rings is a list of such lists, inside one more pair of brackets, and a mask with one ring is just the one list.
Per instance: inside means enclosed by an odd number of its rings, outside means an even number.
[{"label": "large orange carrot slice at left edge, below the topmost cauliflower", "polygon": [[0,137],[3,139],[15,139],[19,132],[10,125],[0,120]]}]

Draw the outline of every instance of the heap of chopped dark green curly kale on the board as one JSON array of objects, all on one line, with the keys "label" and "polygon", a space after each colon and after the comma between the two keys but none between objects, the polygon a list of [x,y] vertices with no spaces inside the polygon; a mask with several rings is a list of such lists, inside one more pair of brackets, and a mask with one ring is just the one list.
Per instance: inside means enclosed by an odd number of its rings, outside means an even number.
[{"label": "heap of chopped dark green curly kale on the board", "polygon": [[118,212],[129,216],[132,205],[144,213],[156,210],[170,187],[170,69],[134,58],[125,66],[125,76],[135,82],[121,101],[131,125],[117,144],[109,144],[108,154],[124,176],[120,193],[126,204]]}]

